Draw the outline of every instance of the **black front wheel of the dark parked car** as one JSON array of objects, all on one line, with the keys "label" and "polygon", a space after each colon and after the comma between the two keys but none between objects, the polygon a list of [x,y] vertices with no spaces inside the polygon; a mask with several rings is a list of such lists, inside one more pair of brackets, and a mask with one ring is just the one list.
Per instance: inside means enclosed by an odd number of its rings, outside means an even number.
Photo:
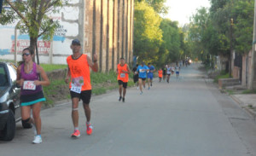
[{"label": "black front wheel of the dark parked car", "polygon": [[1,137],[1,140],[3,141],[13,140],[15,137],[15,129],[16,129],[15,115],[11,110],[9,110],[9,117],[7,118],[7,122],[2,131],[3,137]]}]

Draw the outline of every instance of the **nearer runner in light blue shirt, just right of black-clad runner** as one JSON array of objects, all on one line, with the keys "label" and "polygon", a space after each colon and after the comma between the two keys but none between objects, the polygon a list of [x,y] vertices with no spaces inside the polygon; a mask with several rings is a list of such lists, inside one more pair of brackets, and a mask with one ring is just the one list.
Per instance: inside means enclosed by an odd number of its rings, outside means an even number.
[{"label": "nearer runner in light blue shirt, just right of black-clad runner", "polygon": [[139,72],[139,86],[141,90],[141,95],[143,94],[143,87],[145,88],[145,81],[147,78],[147,72],[149,71],[148,66],[144,65],[144,62],[141,65],[137,66],[137,72]]}]

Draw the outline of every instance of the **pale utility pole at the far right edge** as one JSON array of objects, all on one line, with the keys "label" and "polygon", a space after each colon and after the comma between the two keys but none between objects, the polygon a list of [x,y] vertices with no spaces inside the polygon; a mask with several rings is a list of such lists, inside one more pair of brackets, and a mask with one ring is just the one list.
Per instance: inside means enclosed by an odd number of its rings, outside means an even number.
[{"label": "pale utility pole at the far right edge", "polygon": [[254,57],[255,57],[255,43],[256,43],[256,0],[254,2],[254,20],[253,20],[253,50],[252,50],[252,57],[251,57],[251,74],[249,74],[249,90],[253,90],[253,81],[254,81]]}]

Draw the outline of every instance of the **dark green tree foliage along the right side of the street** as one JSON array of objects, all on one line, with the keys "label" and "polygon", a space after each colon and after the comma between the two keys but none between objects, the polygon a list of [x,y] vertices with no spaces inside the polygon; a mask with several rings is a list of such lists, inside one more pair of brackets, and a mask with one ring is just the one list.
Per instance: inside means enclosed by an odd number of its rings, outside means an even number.
[{"label": "dark green tree foliage along the right side of the street", "polygon": [[193,54],[202,61],[208,55],[229,58],[231,39],[236,53],[247,53],[252,47],[253,6],[253,0],[211,0],[210,9],[197,9],[189,24]]}]

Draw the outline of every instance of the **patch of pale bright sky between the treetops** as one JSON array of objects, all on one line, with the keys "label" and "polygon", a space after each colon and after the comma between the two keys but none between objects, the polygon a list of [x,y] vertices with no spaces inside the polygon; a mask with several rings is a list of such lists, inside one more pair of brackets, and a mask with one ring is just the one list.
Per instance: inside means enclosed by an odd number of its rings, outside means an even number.
[{"label": "patch of pale bright sky between the treetops", "polygon": [[189,17],[195,14],[196,9],[210,7],[209,0],[166,0],[169,7],[168,14],[164,17],[177,20],[180,26],[189,23]]}]

